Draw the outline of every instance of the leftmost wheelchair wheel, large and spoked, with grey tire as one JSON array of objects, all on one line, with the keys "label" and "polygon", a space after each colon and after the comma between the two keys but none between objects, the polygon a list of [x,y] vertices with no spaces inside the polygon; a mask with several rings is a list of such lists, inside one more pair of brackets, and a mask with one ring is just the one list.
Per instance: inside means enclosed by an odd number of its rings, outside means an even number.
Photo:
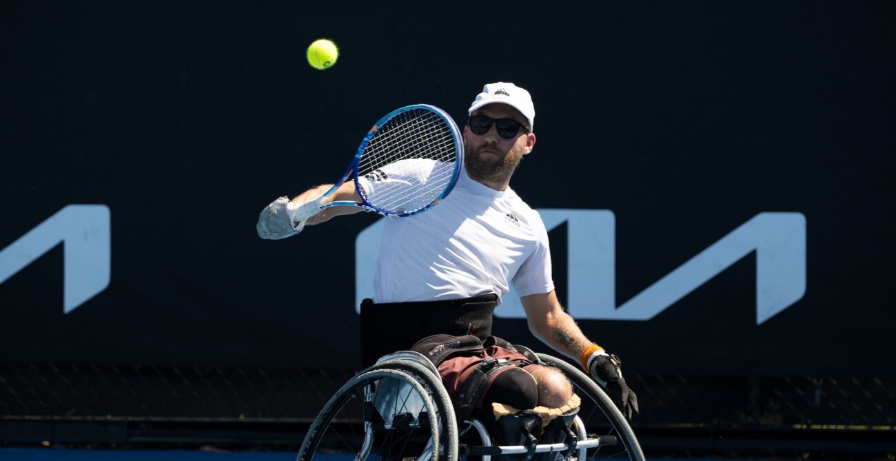
[{"label": "leftmost wheelchair wheel, large and spoked, with grey tire", "polygon": [[366,371],[340,388],[308,429],[297,461],[438,461],[435,404],[409,373]]}]

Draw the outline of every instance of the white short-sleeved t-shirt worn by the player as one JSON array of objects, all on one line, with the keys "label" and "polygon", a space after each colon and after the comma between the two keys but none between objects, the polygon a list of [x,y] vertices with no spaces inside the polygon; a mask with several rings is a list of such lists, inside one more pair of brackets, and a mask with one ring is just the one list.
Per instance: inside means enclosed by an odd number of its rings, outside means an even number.
[{"label": "white short-sleeved t-shirt worn by the player", "polygon": [[[383,171],[386,178],[359,178],[366,194],[373,196],[391,181],[419,180],[388,166]],[[545,225],[512,189],[495,191],[461,170],[451,194],[433,209],[386,218],[374,277],[376,303],[490,293],[500,298],[511,283],[521,296],[554,289]]]}]

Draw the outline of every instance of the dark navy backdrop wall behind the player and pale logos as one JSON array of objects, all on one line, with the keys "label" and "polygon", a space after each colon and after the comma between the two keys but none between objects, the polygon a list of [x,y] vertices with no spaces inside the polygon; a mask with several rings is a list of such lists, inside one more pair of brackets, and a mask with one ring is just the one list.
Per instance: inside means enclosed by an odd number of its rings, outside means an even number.
[{"label": "dark navy backdrop wall behind the player and pale logos", "polygon": [[268,242],[258,212],[393,108],[462,121],[513,81],[538,111],[513,187],[616,213],[617,303],[756,213],[806,216],[806,295],[762,325],[752,255],[653,320],[583,321],[628,370],[892,374],[892,4],[325,6],[0,6],[0,248],[67,204],[112,217],[111,283],[78,309],[62,247],[0,285],[0,362],[355,366],[375,218]]}]

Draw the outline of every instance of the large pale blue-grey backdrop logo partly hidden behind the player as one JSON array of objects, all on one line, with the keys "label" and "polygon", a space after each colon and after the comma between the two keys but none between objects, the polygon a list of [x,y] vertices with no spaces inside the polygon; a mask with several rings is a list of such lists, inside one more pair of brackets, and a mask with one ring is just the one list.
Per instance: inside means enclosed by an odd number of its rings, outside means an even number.
[{"label": "large pale blue-grey backdrop logo partly hidden behind the player", "polygon": [[[799,301],[806,293],[806,217],[763,212],[712,243],[632,299],[616,307],[616,216],[607,209],[539,209],[548,230],[568,223],[569,312],[576,319],[650,320],[738,260],[756,252],[756,324]],[[383,235],[383,220],[355,241],[355,306],[369,297]],[[562,249],[552,249],[554,252]],[[513,289],[495,311],[522,319]]]}]

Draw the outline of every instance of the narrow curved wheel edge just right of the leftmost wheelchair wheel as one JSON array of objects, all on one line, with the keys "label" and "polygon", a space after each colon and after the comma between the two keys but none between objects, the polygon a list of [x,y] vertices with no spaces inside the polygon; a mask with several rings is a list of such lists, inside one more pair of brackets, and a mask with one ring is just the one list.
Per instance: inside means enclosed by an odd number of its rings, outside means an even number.
[{"label": "narrow curved wheel edge just right of the leftmost wheelchair wheel", "polygon": [[439,452],[443,461],[456,461],[458,457],[458,423],[454,416],[451,397],[442,385],[442,378],[426,368],[426,366],[410,360],[386,360],[376,363],[369,370],[399,370],[413,376],[423,385],[426,393],[433,400],[435,410],[435,426],[439,429],[439,440],[442,447]]}]

